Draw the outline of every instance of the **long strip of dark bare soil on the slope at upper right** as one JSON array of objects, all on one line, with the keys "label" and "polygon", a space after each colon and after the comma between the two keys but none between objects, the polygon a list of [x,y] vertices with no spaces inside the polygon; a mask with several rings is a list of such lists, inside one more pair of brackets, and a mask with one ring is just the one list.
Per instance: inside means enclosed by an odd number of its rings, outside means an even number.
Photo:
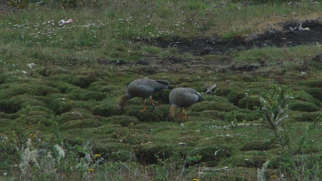
[{"label": "long strip of dark bare soil on the slope at upper right", "polygon": [[[152,46],[175,47],[181,53],[193,55],[225,54],[229,50],[247,50],[254,47],[296,46],[314,44],[322,41],[322,25],[318,20],[306,20],[302,23],[286,23],[283,30],[269,29],[262,35],[237,37],[231,40],[221,40],[216,36],[208,39],[198,38],[187,41],[166,41],[162,39],[141,42]],[[174,60],[176,61],[176,60]],[[178,61],[178,60],[177,60]]]}]

